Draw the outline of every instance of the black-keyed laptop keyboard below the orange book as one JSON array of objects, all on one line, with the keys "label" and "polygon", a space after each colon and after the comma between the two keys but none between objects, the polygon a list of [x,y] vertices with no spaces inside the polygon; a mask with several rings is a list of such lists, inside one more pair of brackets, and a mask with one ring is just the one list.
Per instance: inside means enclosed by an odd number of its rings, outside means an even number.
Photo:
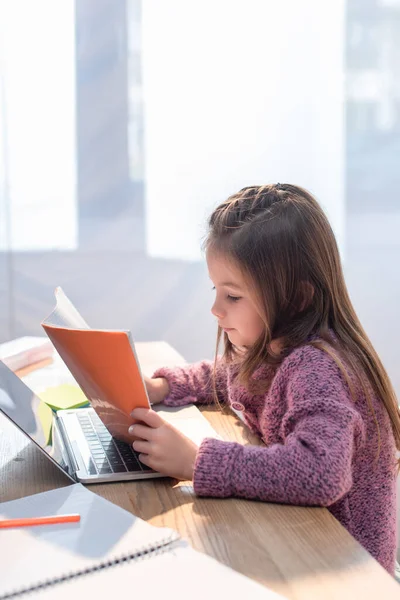
[{"label": "black-keyed laptop keyboard below the orange book", "polygon": [[77,417],[93,459],[87,465],[91,475],[152,471],[150,467],[140,462],[139,454],[130,444],[120,442],[111,436],[94,411],[93,413],[85,411],[82,414],[78,411]]}]

